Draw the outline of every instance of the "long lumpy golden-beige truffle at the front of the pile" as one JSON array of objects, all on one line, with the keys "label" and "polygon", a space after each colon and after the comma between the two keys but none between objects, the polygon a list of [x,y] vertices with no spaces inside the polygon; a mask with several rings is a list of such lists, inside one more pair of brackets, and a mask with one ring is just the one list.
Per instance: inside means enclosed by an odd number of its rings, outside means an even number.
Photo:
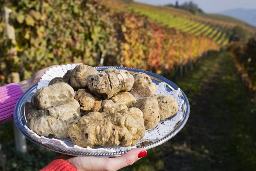
[{"label": "long lumpy golden-beige truffle at the front of the pile", "polygon": [[130,108],[114,114],[91,112],[74,122],[69,135],[81,147],[133,146],[145,136],[143,113]]}]

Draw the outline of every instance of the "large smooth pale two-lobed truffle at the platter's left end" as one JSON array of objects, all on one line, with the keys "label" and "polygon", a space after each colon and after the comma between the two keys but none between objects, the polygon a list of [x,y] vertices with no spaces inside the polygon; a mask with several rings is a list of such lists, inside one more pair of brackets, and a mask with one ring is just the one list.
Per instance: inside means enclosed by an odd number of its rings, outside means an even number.
[{"label": "large smooth pale two-lobed truffle at the platter's left end", "polygon": [[31,99],[28,126],[38,135],[67,138],[70,125],[80,119],[80,105],[67,83],[42,87]]}]

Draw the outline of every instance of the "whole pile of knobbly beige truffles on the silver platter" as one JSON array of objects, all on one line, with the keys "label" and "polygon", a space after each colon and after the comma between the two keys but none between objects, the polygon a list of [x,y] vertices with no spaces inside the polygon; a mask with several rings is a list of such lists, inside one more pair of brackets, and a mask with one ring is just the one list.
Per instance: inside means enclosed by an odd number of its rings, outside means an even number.
[{"label": "whole pile of knobbly beige truffles on the silver platter", "polygon": [[81,147],[134,146],[146,130],[178,111],[173,97],[156,91],[145,73],[115,68],[98,73],[77,65],[36,91],[28,126],[38,135],[70,137]]}]

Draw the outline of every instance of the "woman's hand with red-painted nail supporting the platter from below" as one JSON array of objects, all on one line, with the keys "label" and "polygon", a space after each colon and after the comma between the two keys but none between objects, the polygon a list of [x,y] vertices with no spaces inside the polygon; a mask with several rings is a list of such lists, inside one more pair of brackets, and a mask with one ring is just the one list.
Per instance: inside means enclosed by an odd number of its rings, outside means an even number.
[{"label": "woman's hand with red-painted nail supporting the platter from below", "polygon": [[143,148],[135,148],[120,157],[73,157],[61,155],[60,158],[67,160],[77,171],[116,171],[120,168],[132,165],[140,158],[147,155]]}]

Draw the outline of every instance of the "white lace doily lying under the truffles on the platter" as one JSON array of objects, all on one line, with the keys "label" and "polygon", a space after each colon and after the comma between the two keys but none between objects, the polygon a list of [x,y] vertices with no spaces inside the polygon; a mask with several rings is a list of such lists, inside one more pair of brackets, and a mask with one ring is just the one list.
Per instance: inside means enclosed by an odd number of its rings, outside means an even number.
[{"label": "white lace doily lying under the truffles on the platter", "polygon": [[[75,66],[76,66],[75,64],[72,64],[72,65],[68,64],[68,65],[53,67],[53,68],[47,70],[45,72],[45,74],[42,76],[40,82],[38,83],[37,89],[47,86],[48,83],[50,82],[50,80],[52,80],[55,77],[63,77],[64,74],[69,69],[74,69]],[[166,89],[166,84],[164,82],[160,82],[158,84],[158,90],[157,90],[156,94],[166,94],[166,95],[170,95],[170,96],[174,97],[179,105],[179,110],[173,117],[170,117],[163,121],[160,121],[159,124],[155,128],[153,128],[151,130],[147,130],[145,137],[142,138],[142,140],[139,141],[135,146],[130,146],[130,147],[95,146],[93,148],[90,148],[90,147],[82,148],[80,146],[74,145],[70,138],[58,139],[58,138],[48,138],[48,137],[44,137],[44,136],[39,136],[34,131],[30,130],[26,125],[24,125],[24,126],[25,126],[25,129],[29,132],[29,134],[31,134],[31,136],[34,136],[37,139],[40,139],[43,144],[51,144],[51,145],[54,145],[54,146],[62,148],[62,149],[75,150],[75,151],[81,151],[81,152],[118,152],[118,151],[130,150],[132,148],[141,146],[140,144],[144,141],[156,142],[156,141],[162,139],[164,136],[166,136],[172,130],[174,130],[175,126],[182,119],[182,116],[183,116],[183,113],[185,110],[185,105],[184,105],[184,100],[182,100],[181,96],[180,96],[180,89],[173,90],[173,91],[169,92]]]}]

